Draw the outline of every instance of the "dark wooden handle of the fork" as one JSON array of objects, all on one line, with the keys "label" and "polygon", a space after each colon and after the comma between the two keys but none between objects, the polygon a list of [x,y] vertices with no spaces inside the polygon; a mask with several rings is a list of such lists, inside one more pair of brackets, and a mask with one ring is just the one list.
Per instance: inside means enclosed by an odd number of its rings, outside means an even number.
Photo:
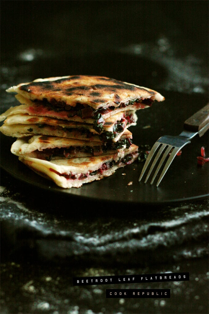
[{"label": "dark wooden handle of the fork", "polygon": [[[184,129],[187,131],[199,132],[208,122],[209,103],[184,122]],[[206,129],[204,129],[204,133],[208,130],[208,128],[209,125]],[[201,133],[201,135],[203,134]]]}]

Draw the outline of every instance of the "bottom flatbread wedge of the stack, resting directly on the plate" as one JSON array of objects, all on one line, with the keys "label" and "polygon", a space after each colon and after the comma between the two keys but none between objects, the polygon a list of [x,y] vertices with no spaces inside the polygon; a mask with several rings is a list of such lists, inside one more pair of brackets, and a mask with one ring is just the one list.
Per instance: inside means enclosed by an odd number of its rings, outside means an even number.
[{"label": "bottom flatbread wedge of the stack, resting directly on the plate", "polygon": [[30,157],[19,160],[39,175],[63,188],[81,187],[84,183],[111,176],[118,168],[131,164],[138,157],[138,146],[132,144],[121,154],[70,158],[54,161]]}]

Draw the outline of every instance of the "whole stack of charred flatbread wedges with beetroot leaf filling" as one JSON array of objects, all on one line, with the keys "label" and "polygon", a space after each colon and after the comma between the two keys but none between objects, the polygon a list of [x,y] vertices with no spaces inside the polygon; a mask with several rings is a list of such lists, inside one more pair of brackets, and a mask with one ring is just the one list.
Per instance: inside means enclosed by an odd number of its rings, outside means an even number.
[{"label": "whole stack of charred flatbread wedges with beetroot leaf filling", "polygon": [[90,75],[39,78],[7,92],[20,102],[0,116],[0,131],[16,138],[11,152],[64,188],[100,180],[136,160],[128,127],[136,125],[136,111],[164,100],[152,89]]}]

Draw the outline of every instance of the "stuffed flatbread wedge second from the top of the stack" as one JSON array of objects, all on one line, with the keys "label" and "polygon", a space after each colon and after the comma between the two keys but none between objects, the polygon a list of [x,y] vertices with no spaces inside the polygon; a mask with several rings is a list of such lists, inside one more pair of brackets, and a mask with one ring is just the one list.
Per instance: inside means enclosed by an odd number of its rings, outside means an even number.
[{"label": "stuffed flatbread wedge second from the top of the stack", "polygon": [[[89,139],[98,141],[117,142],[128,127],[136,125],[137,115],[134,111],[119,112],[111,116],[102,125],[98,132],[94,125],[74,121],[55,119],[44,116],[31,116],[28,114],[15,114],[8,116],[0,127],[0,131],[12,137],[25,137],[29,135],[52,135],[66,138]],[[97,127],[97,126],[96,126]],[[97,128],[96,128],[97,129]]]}]

